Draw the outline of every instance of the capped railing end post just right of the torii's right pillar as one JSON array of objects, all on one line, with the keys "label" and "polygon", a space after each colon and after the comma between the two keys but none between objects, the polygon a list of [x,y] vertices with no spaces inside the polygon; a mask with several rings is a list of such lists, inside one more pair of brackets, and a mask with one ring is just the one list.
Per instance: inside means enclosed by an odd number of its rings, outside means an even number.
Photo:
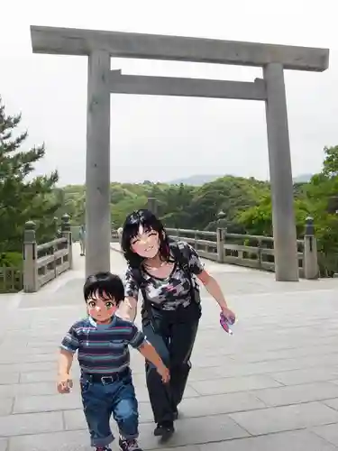
[{"label": "capped railing end post just right of the torii's right pillar", "polygon": [[318,279],[317,243],[315,240],[314,218],[306,217],[306,230],[304,235],[304,277],[306,279]]}]

